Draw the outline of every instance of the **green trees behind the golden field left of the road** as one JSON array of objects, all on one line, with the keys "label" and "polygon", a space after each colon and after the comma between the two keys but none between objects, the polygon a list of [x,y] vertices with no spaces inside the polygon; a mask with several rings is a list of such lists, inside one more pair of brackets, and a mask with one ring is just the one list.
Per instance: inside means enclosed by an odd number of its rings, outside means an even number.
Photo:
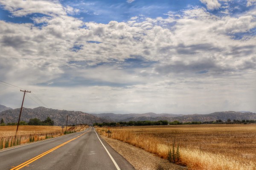
[{"label": "green trees behind the golden field left of the road", "polygon": [[[18,123],[4,123],[3,118],[0,121],[0,126],[13,126],[17,125]],[[27,123],[26,121],[20,121],[19,125],[35,125],[35,126],[53,126],[54,121],[52,121],[51,118],[47,117],[44,121],[41,121],[39,118],[31,118],[29,119],[29,122]]]}]

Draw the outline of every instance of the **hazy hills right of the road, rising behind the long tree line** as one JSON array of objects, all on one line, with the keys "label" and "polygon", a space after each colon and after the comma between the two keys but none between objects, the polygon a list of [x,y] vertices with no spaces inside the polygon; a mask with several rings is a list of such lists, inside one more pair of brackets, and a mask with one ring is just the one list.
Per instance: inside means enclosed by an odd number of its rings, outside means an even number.
[{"label": "hazy hills right of the road, rising behind the long tree line", "polygon": [[210,114],[194,114],[194,115],[173,115],[168,113],[155,114],[155,113],[144,113],[144,114],[114,114],[114,113],[102,113],[102,114],[93,114],[100,118],[108,119],[109,121],[180,121],[180,122],[189,122],[189,121],[216,121],[221,119],[222,121],[227,121],[227,119],[236,120],[255,120],[256,113],[252,112],[214,112]]}]

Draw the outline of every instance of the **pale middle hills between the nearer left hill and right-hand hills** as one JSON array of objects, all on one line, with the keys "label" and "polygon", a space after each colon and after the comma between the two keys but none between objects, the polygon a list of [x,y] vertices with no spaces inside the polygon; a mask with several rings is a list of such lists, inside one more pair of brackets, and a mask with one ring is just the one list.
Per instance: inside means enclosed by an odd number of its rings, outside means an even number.
[{"label": "pale middle hills between the nearer left hill and right-hand hills", "polygon": [[[100,113],[100,114],[91,114],[95,115],[99,118],[105,118],[110,121],[144,121],[144,120],[158,120],[159,118],[163,118],[168,120],[168,118],[173,118],[177,116],[182,116],[181,114],[169,114],[169,113],[161,113],[156,114],[152,112],[137,114],[137,113],[130,113],[130,114],[114,114],[114,113]],[[163,120],[163,119],[159,119]]]}]

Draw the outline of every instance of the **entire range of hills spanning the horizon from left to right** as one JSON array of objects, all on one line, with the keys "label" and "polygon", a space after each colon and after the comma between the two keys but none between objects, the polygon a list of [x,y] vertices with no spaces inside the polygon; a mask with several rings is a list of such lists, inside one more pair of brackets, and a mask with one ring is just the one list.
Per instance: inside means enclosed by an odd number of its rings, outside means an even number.
[{"label": "entire range of hills spanning the horizon from left to right", "polygon": [[[1,111],[3,110],[3,111]],[[0,119],[3,118],[5,123],[17,122],[20,113],[20,108],[12,109],[0,105]],[[45,107],[37,107],[35,109],[22,109],[22,115],[20,120],[28,122],[31,118],[39,118],[44,121],[47,117],[50,117],[54,121],[54,125],[65,125],[68,115],[68,124],[86,123],[103,123],[103,122],[119,122],[119,121],[216,121],[221,119],[227,121],[231,119],[236,120],[256,120],[256,113],[241,111],[227,111],[227,112],[214,112],[210,114],[194,114],[194,115],[181,115],[181,114],[169,114],[161,113],[156,114],[152,112],[143,114],[114,114],[114,113],[100,113],[100,114],[88,114],[80,111],[67,111],[58,109],[48,109]]]}]

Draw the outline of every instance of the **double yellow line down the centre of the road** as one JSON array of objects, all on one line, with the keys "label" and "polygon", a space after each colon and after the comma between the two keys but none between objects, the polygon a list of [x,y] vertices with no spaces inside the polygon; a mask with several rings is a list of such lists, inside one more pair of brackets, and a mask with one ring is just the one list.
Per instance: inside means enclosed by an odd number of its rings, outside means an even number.
[{"label": "double yellow line down the centre of the road", "polygon": [[[90,132],[90,131],[91,131],[91,128],[90,128],[90,130],[89,130],[88,132]],[[88,133],[88,132],[85,132],[85,133]],[[81,134],[81,135],[84,135],[85,133],[83,133],[83,134]],[[77,136],[76,138],[79,138],[81,135]],[[28,161],[26,161],[26,162],[24,162],[24,163],[18,165],[17,167],[14,167],[14,168],[10,169],[10,170],[19,170],[19,169],[25,167],[26,165],[31,164],[33,161],[36,161],[36,160],[38,160],[39,158],[41,158],[41,157],[47,155],[48,153],[52,152],[53,150],[56,150],[56,149],[58,149],[59,147],[62,147],[63,145],[65,145],[65,144],[67,144],[67,143],[69,143],[69,142],[75,140],[76,138],[70,139],[69,141],[66,141],[66,142],[64,142],[63,144],[60,144],[60,145],[58,145],[57,147],[54,147],[54,148],[52,148],[52,149],[50,149],[50,150],[48,150],[48,151],[46,151],[46,152],[44,152],[44,153],[42,153],[42,154],[40,154],[40,155],[34,157],[34,158],[32,158],[32,159],[29,159]]]}]

